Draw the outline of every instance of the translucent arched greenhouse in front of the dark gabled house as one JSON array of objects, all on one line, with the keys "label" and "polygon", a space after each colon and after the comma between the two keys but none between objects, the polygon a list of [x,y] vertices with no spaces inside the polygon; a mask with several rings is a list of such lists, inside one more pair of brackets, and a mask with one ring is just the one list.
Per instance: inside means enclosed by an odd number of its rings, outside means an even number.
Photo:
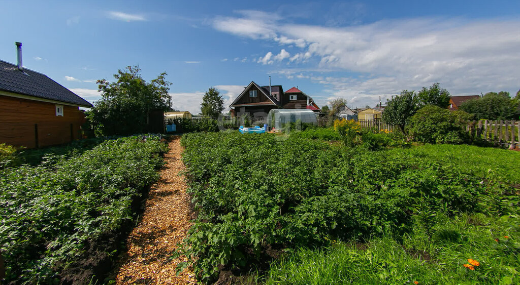
[{"label": "translucent arched greenhouse in front of the dark gabled house", "polygon": [[[291,124],[294,123],[294,124]],[[317,125],[316,113],[309,109],[272,109],[267,115],[267,124],[275,130],[285,130],[298,123]]]}]

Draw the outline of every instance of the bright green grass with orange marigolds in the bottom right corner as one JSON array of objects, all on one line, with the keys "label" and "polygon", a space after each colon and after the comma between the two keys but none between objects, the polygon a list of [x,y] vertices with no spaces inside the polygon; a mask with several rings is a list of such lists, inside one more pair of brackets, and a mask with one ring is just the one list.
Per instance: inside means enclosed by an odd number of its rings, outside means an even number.
[{"label": "bright green grass with orange marigolds in the bottom right corner", "polygon": [[[374,237],[363,244],[335,243],[326,249],[300,249],[271,265],[266,284],[419,284],[520,282],[518,216],[436,217],[428,233]],[[505,238],[508,236],[509,238]],[[498,240],[498,241],[496,241]],[[476,260],[475,270],[467,269]],[[262,280],[263,279],[263,280]]]}]

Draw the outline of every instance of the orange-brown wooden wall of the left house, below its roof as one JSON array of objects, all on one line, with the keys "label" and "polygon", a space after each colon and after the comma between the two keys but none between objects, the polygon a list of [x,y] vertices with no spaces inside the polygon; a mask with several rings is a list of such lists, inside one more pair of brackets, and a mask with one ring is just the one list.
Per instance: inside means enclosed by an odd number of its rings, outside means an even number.
[{"label": "orange-brown wooden wall of the left house, below its roof", "polygon": [[[78,106],[0,95],[0,144],[44,147],[81,138],[85,115]],[[63,116],[56,116],[56,105]]]}]

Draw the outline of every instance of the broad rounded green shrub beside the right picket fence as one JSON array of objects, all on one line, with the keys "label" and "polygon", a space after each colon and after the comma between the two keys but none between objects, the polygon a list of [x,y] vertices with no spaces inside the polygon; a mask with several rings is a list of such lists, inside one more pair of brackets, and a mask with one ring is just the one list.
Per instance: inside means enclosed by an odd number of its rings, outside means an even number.
[{"label": "broad rounded green shrub beside the right picket fence", "polygon": [[410,118],[406,130],[415,141],[422,143],[467,143],[469,134],[465,131],[465,126],[470,116],[463,111],[451,112],[448,109],[428,105]]}]

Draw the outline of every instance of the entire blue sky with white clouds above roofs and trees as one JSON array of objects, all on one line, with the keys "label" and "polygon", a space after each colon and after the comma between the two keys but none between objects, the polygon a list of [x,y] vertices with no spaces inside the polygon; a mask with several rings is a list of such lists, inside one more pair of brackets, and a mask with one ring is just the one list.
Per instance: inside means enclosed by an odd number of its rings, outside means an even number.
[{"label": "entire blue sky with white clouds above roofs and trees", "polygon": [[440,82],[452,95],[520,89],[520,1],[0,1],[0,59],[90,102],[97,79],[161,72],[174,107],[217,87],[298,86],[351,107]]}]

